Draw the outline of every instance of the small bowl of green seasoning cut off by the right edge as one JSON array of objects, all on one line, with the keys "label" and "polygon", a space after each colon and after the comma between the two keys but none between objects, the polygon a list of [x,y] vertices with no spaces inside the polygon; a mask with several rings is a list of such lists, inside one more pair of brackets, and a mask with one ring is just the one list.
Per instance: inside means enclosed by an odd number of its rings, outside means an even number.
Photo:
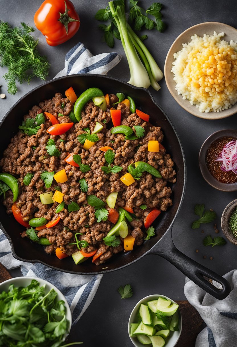
[{"label": "small bowl of green seasoning cut off by the right edge", "polygon": [[221,228],[227,239],[237,245],[237,199],[231,201],[223,211]]}]

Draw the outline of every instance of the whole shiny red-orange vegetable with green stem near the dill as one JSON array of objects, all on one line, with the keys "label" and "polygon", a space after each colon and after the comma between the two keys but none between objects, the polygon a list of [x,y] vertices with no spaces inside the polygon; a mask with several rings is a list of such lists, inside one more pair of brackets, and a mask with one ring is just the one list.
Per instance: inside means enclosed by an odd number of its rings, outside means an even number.
[{"label": "whole shiny red-orange vegetable with green stem near the dill", "polygon": [[34,22],[50,46],[68,41],[80,27],[80,18],[69,0],[45,0],[35,13]]}]

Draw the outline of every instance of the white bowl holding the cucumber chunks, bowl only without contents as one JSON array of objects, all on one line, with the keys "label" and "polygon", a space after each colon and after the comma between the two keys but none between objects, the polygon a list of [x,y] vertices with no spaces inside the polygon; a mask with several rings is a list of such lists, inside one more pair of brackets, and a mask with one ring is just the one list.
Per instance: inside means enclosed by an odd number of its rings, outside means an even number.
[{"label": "white bowl holding the cucumber chunks, bowl only without contents", "polygon": [[[144,303],[146,303],[147,301],[150,301],[150,300],[157,300],[159,296],[161,296],[162,298],[165,298],[167,300],[170,300],[171,303],[175,303],[174,300],[168,298],[165,295],[161,295],[161,294],[148,295],[145,298],[141,299],[137,303],[137,305],[133,308],[132,313],[130,314],[129,324],[128,324],[128,332],[129,332],[130,340],[132,341],[133,345],[136,346],[136,347],[144,347],[145,345],[141,344],[141,342],[139,342],[136,337],[131,337],[130,336],[130,324],[137,322],[137,313],[138,313],[138,310],[139,310],[139,306],[141,304],[144,304]],[[165,341],[165,347],[174,347],[177,344],[177,342],[178,342],[178,340],[180,338],[181,331],[182,331],[182,317],[181,317],[181,312],[180,312],[179,308],[178,308],[177,312],[178,312],[178,318],[179,318],[179,330],[170,332],[169,337]]]}]

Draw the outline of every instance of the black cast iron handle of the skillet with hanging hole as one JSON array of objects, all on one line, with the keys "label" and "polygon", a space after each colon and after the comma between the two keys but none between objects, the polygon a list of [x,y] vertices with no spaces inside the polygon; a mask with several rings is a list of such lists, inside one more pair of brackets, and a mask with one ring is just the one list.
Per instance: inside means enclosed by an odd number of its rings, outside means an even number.
[{"label": "black cast iron handle of the skillet with hanging hole", "polygon": [[[206,268],[180,252],[173,243],[171,231],[168,231],[159,241],[157,248],[152,248],[149,253],[160,255],[164,259],[168,260],[191,281],[196,283],[196,285],[205,290],[208,294],[214,296],[216,299],[222,300],[229,295],[231,290],[229,282],[216,272]],[[208,279],[205,279],[203,276]],[[211,284],[209,279],[220,283],[219,285],[217,283],[219,288]]]}]

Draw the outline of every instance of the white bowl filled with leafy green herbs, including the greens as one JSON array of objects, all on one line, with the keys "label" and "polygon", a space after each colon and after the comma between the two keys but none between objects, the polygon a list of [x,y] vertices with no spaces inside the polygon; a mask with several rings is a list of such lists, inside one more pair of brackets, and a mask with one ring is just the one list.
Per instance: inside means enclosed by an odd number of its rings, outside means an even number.
[{"label": "white bowl filled with leafy green herbs, including the greens", "polygon": [[0,284],[0,304],[4,346],[27,340],[37,346],[68,346],[61,342],[71,329],[70,307],[51,283],[34,277],[11,278]]}]

